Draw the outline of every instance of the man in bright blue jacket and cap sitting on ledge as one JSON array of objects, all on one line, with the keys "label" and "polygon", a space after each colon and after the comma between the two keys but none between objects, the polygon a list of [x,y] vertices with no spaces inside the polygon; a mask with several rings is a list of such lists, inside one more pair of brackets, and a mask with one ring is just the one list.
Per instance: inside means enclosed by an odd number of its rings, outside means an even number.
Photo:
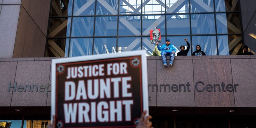
[{"label": "man in bright blue jacket and cap sitting on ledge", "polygon": [[162,46],[158,46],[158,42],[156,42],[156,45],[157,45],[158,50],[161,51],[164,66],[165,67],[167,66],[166,56],[170,56],[169,65],[172,66],[174,58],[175,58],[176,48],[174,45],[171,44],[170,39],[166,39],[165,44]]}]

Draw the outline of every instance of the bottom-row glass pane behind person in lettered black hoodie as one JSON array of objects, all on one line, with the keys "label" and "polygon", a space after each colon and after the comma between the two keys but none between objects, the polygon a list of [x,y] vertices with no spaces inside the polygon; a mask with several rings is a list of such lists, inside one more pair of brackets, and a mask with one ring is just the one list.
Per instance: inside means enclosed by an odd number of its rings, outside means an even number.
[{"label": "bottom-row glass pane behind person in lettered black hoodie", "polygon": [[192,36],[192,44],[192,52],[200,45],[207,56],[217,55],[216,36]]}]

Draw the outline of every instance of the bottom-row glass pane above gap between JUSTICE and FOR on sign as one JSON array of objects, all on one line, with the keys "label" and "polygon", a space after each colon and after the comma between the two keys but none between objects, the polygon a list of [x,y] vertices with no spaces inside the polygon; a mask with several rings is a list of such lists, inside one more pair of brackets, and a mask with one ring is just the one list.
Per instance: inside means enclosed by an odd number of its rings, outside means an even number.
[{"label": "bottom-row glass pane above gap between JUSTICE and FOR on sign", "polygon": [[93,54],[111,54],[116,52],[116,38],[94,38]]}]

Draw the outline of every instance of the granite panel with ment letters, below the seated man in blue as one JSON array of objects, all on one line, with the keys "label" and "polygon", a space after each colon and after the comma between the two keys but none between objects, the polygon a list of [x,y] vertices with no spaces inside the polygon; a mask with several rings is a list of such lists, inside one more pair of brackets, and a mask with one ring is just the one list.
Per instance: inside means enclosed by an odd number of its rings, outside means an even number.
[{"label": "granite panel with ment letters, below the seated man in blue", "polygon": [[174,60],[172,67],[157,60],[156,65],[157,106],[194,106],[192,60]]}]

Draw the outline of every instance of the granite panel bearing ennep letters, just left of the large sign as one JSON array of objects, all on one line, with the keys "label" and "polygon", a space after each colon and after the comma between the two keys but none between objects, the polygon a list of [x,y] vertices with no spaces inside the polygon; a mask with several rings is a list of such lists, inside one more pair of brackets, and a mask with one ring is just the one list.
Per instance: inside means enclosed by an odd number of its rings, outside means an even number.
[{"label": "granite panel bearing ennep letters, just left of the large sign", "polygon": [[46,106],[50,90],[50,61],[22,61],[17,64],[16,92],[11,106]]}]

